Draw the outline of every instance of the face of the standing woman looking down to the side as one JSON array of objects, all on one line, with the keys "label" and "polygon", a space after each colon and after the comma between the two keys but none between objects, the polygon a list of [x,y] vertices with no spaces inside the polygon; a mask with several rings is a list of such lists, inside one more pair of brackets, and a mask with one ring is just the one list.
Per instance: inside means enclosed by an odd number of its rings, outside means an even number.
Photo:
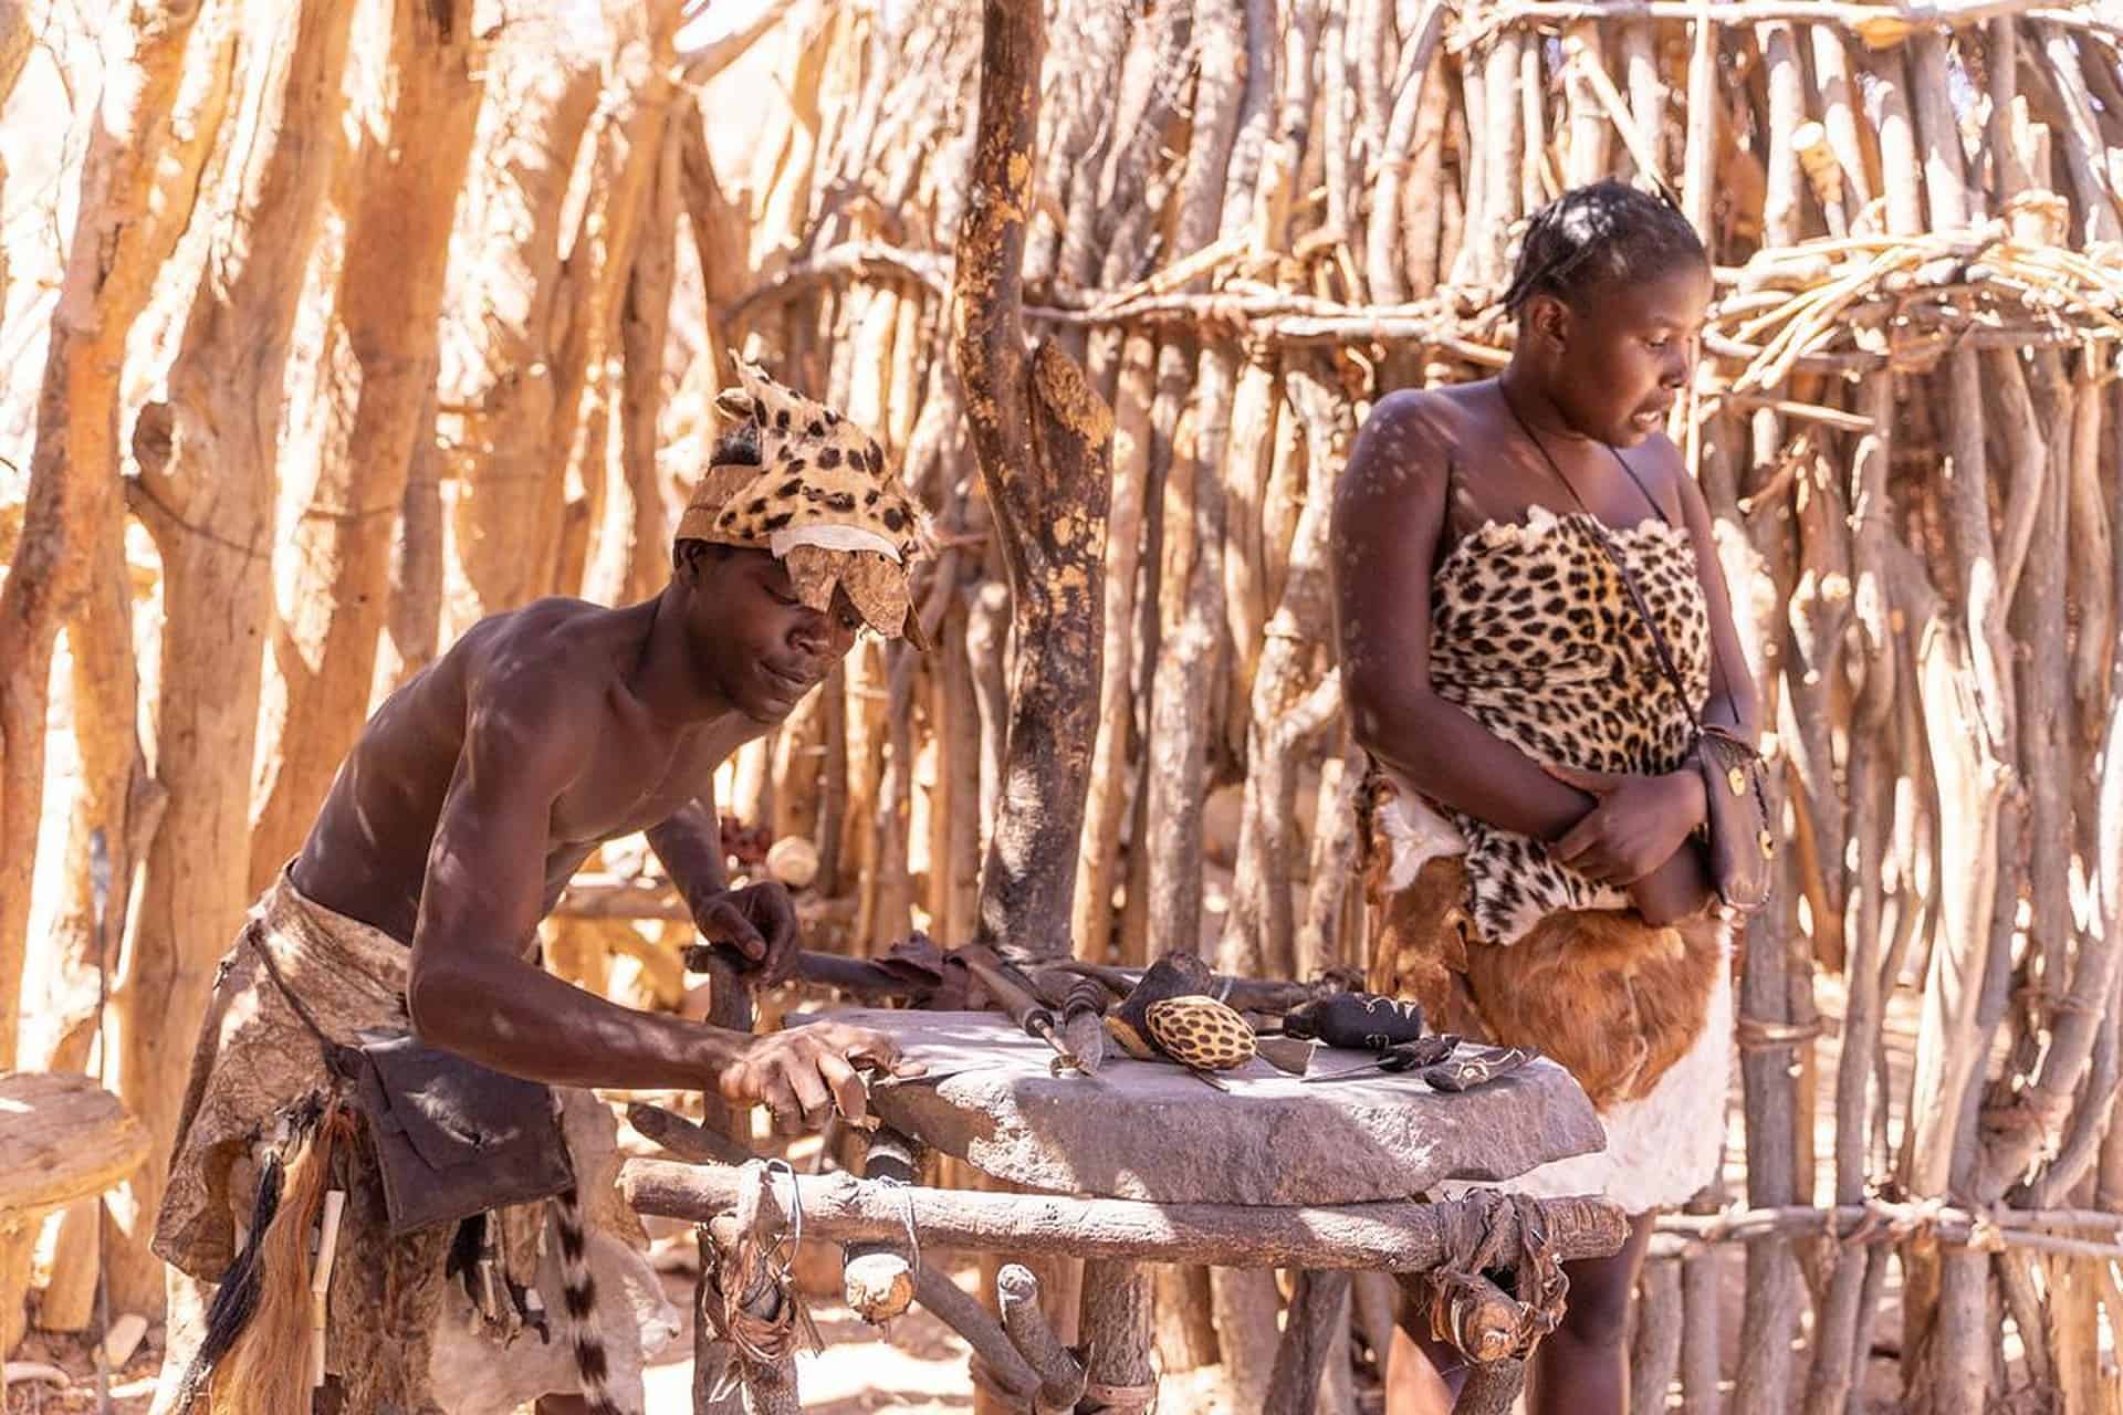
[{"label": "face of the standing woman looking down to the side", "polygon": [[1709,301],[1709,265],[1694,261],[1575,301],[1535,295],[1546,392],[1571,431],[1613,448],[1660,431],[1694,375]]}]

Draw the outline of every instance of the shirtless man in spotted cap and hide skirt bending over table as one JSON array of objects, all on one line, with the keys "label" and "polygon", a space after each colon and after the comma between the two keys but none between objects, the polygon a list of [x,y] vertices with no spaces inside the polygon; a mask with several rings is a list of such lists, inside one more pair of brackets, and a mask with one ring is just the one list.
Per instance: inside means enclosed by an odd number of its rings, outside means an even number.
[{"label": "shirtless man in spotted cap and hide skirt bending over table", "polygon": [[[609,1192],[611,1116],[588,1088],[713,1090],[766,1105],[794,1133],[834,1112],[862,1120],[866,1069],[919,1071],[868,1029],[754,1037],[635,1012],[535,957],[539,921],[590,851],[645,832],[703,936],[749,976],[783,978],[794,906],[779,885],[728,887],[713,772],[783,721],[860,628],[921,643],[909,566],[928,554],[924,518],[875,439],[756,367],[739,365],[739,380],[724,407],[741,422],[679,522],[664,592],[622,609],[539,600],[471,628],[376,713],[301,855],[223,959],[155,1233],[157,1252],[204,1283],[261,1262],[240,1250],[274,1252],[261,1233],[299,1211],[293,1199],[278,1213],[255,1201],[246,1188],[265,1186],[240,1175],[278,1167],[293,1190],[306,1156],[340,1143],[316,1139],[329,1124],[299,1120],[346,1103],[321,1037],[410,1029],[558,1088],[582,1192],[556,1201],[554,1230],[546,1205],[495,1201],[484,1241],[501,1235],[499,1305],[495,1286],[480,1305],[448,1277],[452,1245],[478,1247],[478,1235],[442,1224],[389,1237],[374,1167],[331,1160],[331,1184],[350,1188],[327,1328],[342,1409],[486,1411],[546,1396],[541,1411],[556,1415],[639,1400],[645,1347],[662,1337],[660,1317],[641,1313],[662,1311],[662,1296],[622,1241],[633,1220]],[[565,1341],[522,1341],[539,1311],[565,1313]],[[195,1345],[172,1330],[170,1368],[242,1385],[240,1349],[210,1341],[193,1370]],[[586,1407],[552,1396],[577,1383]]]}]

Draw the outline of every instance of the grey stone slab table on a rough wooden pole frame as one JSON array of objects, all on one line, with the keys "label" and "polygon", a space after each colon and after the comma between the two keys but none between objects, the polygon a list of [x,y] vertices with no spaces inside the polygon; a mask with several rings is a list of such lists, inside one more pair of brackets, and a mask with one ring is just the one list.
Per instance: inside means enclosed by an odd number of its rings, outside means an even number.
[{"label": "grey stone slab table on a rough wooden pole frame", "polygon": [[[934,1228],[953,1247],[1085,1254],[1081,1337],[1091,1370],[1078,1411],[1132,1409],[1125,1392],[1153,1379],[1142,1262],[1289,1266],[1310,1245],[1297,1266],[1420,1271],[1437,1262],[1437,1241],[1425,1237],[1418,1220],[1429,1205],[1414,1196],[1499,1184],[1603,1143],[1584,1090],[1546,1059],[1461,1095],[1431,1090],[1414,1076],[1299,1082],[1255,1059],[1223,1071],[1227,1090],[1219,1090],[1117,1048],[1095,1078],[1053,1076],[1053,1052],[998,1012],[828,1016],[892,1035],[928,1067],[915,1080],[873,1084],[870,1105],[887,1126],[1036,1194],[898,1186],[885,1196],[847,1175],[788,1180],[798,1186],[805,1230],[875,1252],[896,1224],[913,1222],[902,1216],[926,1216],[924,1237]],[[1310,1073],[1363,1061],[1361,1052],[1321,1048]],[[705,1222],[730,1203],[737,1182],[735,1171],[698,1173],[633,1160],[622,1184],[648,1213]],[[1620,1209],[1563,1203],[1594,1218],[1569,1239],[1577,1252],[1565,1256],[1620,1245]],[[1293,1317],[1287,1351],[1304,1345],[1301,1326]],[[1312,1379],[1278,1383],[1289,1385],[1278,1411],[1312,1409],[1316,1349],[1301,1360]],[[1509,1385],[1516,1390],[1516,1370]],[[1495,1398],[1478,1398],[1475,1409]]]}]

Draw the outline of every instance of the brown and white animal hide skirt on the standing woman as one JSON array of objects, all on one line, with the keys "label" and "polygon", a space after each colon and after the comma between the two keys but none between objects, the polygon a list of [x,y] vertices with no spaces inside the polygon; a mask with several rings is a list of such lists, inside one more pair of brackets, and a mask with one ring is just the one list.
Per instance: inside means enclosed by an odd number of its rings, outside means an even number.
[{"label": "brown and white animal hide skirt on the standing woman", "polygon": [[1558,910],[1507,946],[1467,914],[1452,825],[1382,774],[1365,787],[1367,986],[1414,997],[1431,1027],[1531,1046],[1584,1086],[1607,1148],[1505,1182],[1673,1207],[1718,1173],[1732,1056],[1730,931],[1654,927],[1633,910]]}]

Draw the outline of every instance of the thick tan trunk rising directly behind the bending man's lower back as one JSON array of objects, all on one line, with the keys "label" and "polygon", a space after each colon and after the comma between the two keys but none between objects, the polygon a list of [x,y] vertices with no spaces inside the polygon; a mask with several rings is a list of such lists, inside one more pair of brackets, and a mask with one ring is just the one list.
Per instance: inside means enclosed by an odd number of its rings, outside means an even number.
[{"label": "thick tan trunk rising directly behind the bending man's lower back", "polygon": [[[365,95],[346,259],[312,409],[316,484],[291,545],[272,658],[287,683],[251,836],[259,891],[301,849],[367,717],[391,596],[391,543],[435,386],[450,221],[480,110],[467,0],[395,0],[391,53]],[[389,115],[389,121],[384,117]]]}]

